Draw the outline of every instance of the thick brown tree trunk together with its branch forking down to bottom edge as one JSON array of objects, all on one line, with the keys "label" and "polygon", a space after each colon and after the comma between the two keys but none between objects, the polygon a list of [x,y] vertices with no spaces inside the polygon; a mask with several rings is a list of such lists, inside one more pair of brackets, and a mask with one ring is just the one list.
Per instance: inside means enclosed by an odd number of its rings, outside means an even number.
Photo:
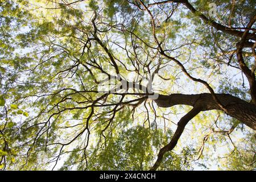
[{"label": "thick brown tree trunk together with its branch forking down to bottom edge", "polygon": [[[216,94],[218,100],[224,104],[226,108],[226,114],[237,118],[245,125],[249,126],[251,129],[256,130],[256,106],[250,104],[249,102],[243,101],[240,98],[231,96],[230,94]],[[160,149],[158,158],[154,166],[150,169],[154,171],[158,169],[160,163],[163,160],[163,156],[166,152],[171,151],[177,144],[181,134],[187,123],[195,117],[200,111],[205,110],[222,110],[221,107],[213,100],[213,97],[210,93],[202,94],[171,94],[170,96],[160,95],[156,104],[159,107],[172,107],[174,105],[189,105],[193,106],[193,109],[184,115],[177,123],[177,129],[174,133],[174,136],[171,139],[171,142],[166,146]],[[234,127],[229,131],[226,131],[226,134],[230,134],[234,130]]]}]

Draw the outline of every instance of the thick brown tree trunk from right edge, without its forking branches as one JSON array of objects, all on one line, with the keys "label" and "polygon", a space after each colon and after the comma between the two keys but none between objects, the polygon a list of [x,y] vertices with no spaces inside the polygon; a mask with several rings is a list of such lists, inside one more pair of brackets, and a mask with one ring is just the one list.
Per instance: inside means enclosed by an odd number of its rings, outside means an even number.
[{"label": "thick brown tree trunk from right edge, without its forking branches", "polygon": [[[256,130],[256,106],[249,102],[230,94],[216,94],[218,100],[225,107],[228,115],[238,119],[246,126]],[[170,96],[159,95],[155,100],[159,107],[171,107],[174,105],[189,105],[200,107],[201,111],[205,110],[222,110],[220,106],[213,100],[209,93],[202,94],[171,94]]]}]

